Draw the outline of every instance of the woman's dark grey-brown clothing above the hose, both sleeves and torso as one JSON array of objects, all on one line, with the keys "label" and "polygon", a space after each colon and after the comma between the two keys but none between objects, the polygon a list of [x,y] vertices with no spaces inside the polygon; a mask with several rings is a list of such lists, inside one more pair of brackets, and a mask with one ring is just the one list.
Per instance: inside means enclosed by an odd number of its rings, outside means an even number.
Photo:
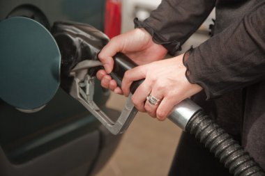
[{"label": "woman's dark grey-brown clothing above the hose, both sleeves and torso", "polygon": [[163,0],[151,17],[135,24],[175,54],[214,6],[213,37],[189,51],[186,77],[204,88],[195,102],[230,134],[240,135],[265,170],[265,1]]}]

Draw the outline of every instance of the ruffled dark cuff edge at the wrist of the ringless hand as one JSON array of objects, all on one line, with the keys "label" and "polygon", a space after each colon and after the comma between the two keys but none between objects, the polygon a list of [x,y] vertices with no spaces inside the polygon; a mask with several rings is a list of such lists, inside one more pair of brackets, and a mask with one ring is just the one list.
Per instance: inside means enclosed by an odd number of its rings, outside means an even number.
[{"label": "ruffled dark cuff edge at the wrist of the ringless hand", "polygon": [[181,50],[181,42],[177,40],[167,41],[162,37],[159,33],[157,33],[149,24],[145,21],[141,22],[137,18],[133,21],[135,23],[135,28],[144,28],[153,38],[153,42],[156,42],[158,45],[162,45],[169,51],[169,54],[174,56],[176,55],[176,51]]}]

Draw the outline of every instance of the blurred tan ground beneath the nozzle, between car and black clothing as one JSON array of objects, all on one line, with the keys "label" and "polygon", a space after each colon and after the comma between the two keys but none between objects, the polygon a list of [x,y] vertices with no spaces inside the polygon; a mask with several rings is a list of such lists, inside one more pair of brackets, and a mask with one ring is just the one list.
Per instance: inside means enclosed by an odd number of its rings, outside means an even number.
[{"label": "blurred tan ground beneath the nozzle, between car and black clothing", "polygon": [[[121,110],[125,100],[112,93],[107,106]],[[181,129],[170,120],[160,122],[137,113],[116,152],[96,176],[167,175],[180,136]]]}]

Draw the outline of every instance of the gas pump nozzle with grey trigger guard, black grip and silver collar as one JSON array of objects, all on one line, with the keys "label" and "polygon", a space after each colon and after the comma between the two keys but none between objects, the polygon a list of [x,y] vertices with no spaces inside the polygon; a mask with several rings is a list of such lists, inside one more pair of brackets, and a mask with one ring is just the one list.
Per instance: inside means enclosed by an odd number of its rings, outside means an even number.
[{"label": "gas pump nozzle with grey trigger guard, black grip and silver collar", "polygon": [[[96,72],[102,68],[98,52],[108,42],[107,36],[93,26],[78,23],[57,22],[52,33],[61,51],[61,87],[77,99],[86,109],[103,123],[112,134],[123,133],[135,117],[137,110],[128,97],[116,122],[112,121],[93,101]],[[114,56],[114,70],[110,74],[119,86],[126,70],[137,66],[124,54]],[[130,88],[134,93],[142,81],[135,81]],[[169,119],[182,129],[188,120],[201,108],[190,99],[175,106]]]}]

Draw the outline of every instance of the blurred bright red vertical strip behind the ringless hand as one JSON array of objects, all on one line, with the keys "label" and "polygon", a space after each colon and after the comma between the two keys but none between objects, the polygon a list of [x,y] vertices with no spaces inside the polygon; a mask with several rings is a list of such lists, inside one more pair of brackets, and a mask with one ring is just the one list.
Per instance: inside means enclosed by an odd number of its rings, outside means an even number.
[{"label": "blurred bright red vertical strip behind the ringless hand", "polygon": [[109,38],[121,33],[121,0],[106,1],[104,33]]}]

